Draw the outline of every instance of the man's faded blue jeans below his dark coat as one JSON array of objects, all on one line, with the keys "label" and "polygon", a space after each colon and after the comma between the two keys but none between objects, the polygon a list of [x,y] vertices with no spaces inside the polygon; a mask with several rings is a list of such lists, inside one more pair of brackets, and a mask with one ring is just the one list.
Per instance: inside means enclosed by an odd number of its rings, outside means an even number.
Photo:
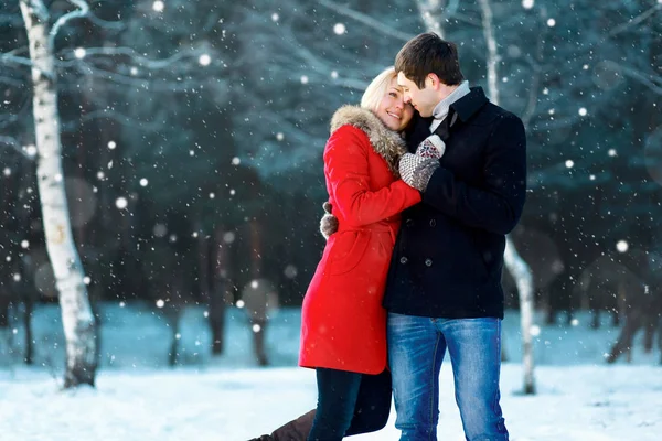
[{"label": "man's faded blue jeans below his dark coat", "polygon": [[401,441],[436,441],[446,348],[468,441],[508,441],[499,405],[501,320],[388,313],[388,362]]}]

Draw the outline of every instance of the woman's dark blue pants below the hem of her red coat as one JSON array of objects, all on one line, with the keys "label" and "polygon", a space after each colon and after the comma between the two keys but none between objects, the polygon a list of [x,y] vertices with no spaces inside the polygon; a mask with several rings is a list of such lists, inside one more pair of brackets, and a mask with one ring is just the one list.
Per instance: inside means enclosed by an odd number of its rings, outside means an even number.
[{"label": "woman's dark blue pants below the hem of her red coat", "polygon": [[378,375],[318,368],[318,407],[308,441],[381,430],[391,412],[391,372]]}]

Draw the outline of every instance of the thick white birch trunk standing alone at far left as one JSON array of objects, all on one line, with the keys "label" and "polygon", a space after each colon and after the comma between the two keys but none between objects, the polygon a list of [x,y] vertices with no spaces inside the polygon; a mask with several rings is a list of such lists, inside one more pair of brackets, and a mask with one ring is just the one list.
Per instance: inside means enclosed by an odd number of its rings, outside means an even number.
[{"label": "thick white birch trunk standing alone at far left", "polygon": [[64,387],[94,386],[96,326],[83,280],[83,265],[72,237],[64,190],[55,58],[49,41],[49,15],[41,0],[21,0],[20,4],[32,60],[38,187],[66,341]]}]

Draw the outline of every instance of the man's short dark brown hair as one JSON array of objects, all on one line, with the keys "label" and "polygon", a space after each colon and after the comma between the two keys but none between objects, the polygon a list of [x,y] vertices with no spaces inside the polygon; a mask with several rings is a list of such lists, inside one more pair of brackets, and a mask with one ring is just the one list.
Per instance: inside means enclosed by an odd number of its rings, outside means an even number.
[{"label": "man's short dark brown hair", "polygon": [[402,72],[418,88],[425,87],[428,74],[437,75],[447,86],[456,86],[465,79],[458,46],[434,32],[417,35],[405,43],[395,56],[395,72]]}]

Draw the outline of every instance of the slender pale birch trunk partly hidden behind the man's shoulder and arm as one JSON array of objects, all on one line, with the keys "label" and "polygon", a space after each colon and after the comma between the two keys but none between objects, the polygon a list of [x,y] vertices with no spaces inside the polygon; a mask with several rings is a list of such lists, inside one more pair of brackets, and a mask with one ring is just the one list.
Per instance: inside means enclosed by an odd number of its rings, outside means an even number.
[{"label": "slender pale birch trunk partly hidden behind the man's shoulder and arm", "polygon": [[[490,0],[479,0],[483,35],[488,46],[488,90],[490,100],[499,105],[499,77],[496,66],[499,54],[496,52],[496,37],[492,24],[492,8]],[[533,273],[531,268],[517,254],[515,245],[506,237],[505,252],[503,255],[506,269],[513,276],[520,293],[520,323],[522,327],[522,345],[524,364],[524,394],[535,394],[533,377],[533,344],[531,326],[533,325]]]}]

